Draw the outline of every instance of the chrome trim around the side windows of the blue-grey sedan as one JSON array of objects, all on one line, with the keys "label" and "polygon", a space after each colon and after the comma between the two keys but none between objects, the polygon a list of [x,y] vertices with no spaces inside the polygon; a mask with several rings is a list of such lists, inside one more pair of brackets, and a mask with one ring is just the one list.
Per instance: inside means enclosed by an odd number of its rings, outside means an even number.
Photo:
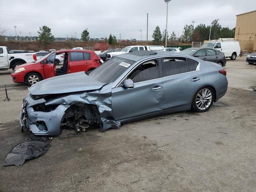
[{"label": "chrome trim around the side windows of the blue-grey sedan", "polygon": [[[117,86],[115,86],[114,88],[117,88],[123,81],[124,79],[127,78],[127,76],[137,67],[139,66],[140,64],[148,61],[148,60],[154,60],[154,59],[158,59],[158,58],[163,58],[163,57],[182,57],[182,58],[188,58],[188,59],[192,59],[192,60],[195,60],[193,58],[189,58],[189,57],[186,57],[186,56],[160,56],[160,57],[155,57],[155,58],[150,58],[150,59],[146,59],[140,63],[138,63],[136,66],[134,66],[134,68],[132,68],[132,70],[130,70],[130,72],[128,72],[128,74],[126,74],[126,76],[124,76],[124,78],[122,78],[122,80],[117,84]],[[200,64],[201,62],[195,60],[196,62],[198,62],[198,65],[196,67],[196,70],[195,71],[200,71]],[[159,63],[158,63],[158,66],[159,66]],[[189,72],[186,72],[186,73],[191,73],[191,72],[195,72],[195,71],[189,71]],[[186,73],[180,73],[180,74],[186,74]],[[166,76],[166,77],[171,77],[171,76],[176,76],[176,75],[180,75],[180,74],[175,74],[175,75],[170,75],[170,76]],[[157,79],[162,79],[162,78],[166,78],[166,77],[160,77],[160,78],[157,78]],[[152,81],[152,80],[157,80],[157,79],[150,79],[150,80],[146,80],[146,81],[142,81],[142,82],[147,82],[147,81]],[[137,82],[137,83],[142,83],[142,82]],[[134,83],[134,84],[137,84],[137,83]]]}]

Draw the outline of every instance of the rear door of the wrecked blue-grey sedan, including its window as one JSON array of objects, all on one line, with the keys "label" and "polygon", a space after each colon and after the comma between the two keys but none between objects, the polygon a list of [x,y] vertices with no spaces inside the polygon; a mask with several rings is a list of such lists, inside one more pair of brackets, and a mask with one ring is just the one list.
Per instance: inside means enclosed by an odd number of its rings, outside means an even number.
[{"label": "rear door of the wrecked blue-grey sedan, including its window", "polygon": [[186,57],[161,58],[159,75],[164,84],[164,110],[190,105],[204,80],[198,65],[196,60]]}]

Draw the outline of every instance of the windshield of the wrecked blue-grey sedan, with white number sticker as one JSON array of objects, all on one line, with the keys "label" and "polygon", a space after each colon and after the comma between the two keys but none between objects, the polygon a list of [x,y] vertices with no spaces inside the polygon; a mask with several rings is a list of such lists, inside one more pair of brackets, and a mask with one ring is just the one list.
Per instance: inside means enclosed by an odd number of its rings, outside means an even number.
[{"label": "windshield of the wrecked blue-grey sedan, with white number sticker", "polygon": [[135,61],[114,57],[90,72],[89,76],[103,83],[117,80]]}]

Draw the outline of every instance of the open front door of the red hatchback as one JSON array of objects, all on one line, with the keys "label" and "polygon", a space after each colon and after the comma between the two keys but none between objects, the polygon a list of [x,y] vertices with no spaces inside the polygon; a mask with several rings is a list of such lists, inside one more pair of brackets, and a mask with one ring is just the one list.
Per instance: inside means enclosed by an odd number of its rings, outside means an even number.
[{"label": "open front door of the red hatchback", "polygon": [[54,77],[56,75],[56,72],[55,72],[56,69],[55,69],[55,64],[54,64],[55,56],[56,56],[56,52],[53,52],[46,58],[46,60],[44,60],[43,69],[44,69],[44,78],[45,79]]}]

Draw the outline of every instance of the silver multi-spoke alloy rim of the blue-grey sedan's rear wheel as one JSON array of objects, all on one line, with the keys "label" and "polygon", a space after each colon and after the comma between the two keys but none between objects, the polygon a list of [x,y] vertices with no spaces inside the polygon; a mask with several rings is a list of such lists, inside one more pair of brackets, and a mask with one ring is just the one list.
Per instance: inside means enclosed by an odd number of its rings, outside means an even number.
[{"label": "silver multi-spoke alloy rim of the blue-grey sedan's rear wheel", "polygon": [[196,95],[196,106],[200,110],[205,110],[207,109],[212,102],[212,92],[204,88],[198,92]]}]

